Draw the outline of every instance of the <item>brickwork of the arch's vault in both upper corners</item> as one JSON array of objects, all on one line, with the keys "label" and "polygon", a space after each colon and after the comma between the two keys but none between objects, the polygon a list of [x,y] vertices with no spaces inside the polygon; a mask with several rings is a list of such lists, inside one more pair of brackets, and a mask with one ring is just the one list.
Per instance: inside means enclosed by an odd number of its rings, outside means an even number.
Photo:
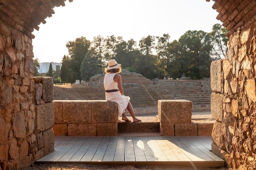
[{"label": "brickwork of the arch's vault in both upper corners", "polygon": [[[52,17],[54,7],[65,6],[66,0],[0,0],[0,20],[29,38],[35,38],[34,29],[39,30],[45,18]],[[209,2],[210,0],[206,0]],[[220,20],[229,30],[229,37],[240,26],[256,14],[255,0],[213,0],[213,9],[219,13]],[[69,0],[73,2],[73,0]],[[203,3],[203,2],[202,2]],[[256,20],[256,19],[255,19]]]}]

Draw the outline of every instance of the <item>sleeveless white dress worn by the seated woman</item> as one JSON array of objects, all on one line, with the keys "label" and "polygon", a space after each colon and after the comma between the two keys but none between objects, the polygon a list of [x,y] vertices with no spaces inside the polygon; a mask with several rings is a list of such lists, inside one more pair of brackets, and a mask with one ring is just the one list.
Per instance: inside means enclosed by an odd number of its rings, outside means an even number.
[{"label": "sleeveless white dress worn by the seated woman", "polygon": [[[114,76],[117,75],[117,73],[107,73],[104,77],[104,87],[105,90],[118,90],[118,83],[114,81]],[[130,97],[121,95],[119,91],[105,93],[106,100],[117,102],[118,107],[118,116],[121,116],[123,113],[125,113],[125,109],[128,106]]]}]

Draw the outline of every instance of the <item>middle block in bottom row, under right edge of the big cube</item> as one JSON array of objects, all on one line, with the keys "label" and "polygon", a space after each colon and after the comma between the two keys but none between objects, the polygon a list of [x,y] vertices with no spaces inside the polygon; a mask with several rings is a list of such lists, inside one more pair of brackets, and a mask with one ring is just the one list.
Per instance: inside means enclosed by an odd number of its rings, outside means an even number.
[{"label": "middle block in bottom row, under right edge of the big cube", "polygon": [[190,124],[175,124],[175,136],[196,136],[197,126],[194,122]]}]

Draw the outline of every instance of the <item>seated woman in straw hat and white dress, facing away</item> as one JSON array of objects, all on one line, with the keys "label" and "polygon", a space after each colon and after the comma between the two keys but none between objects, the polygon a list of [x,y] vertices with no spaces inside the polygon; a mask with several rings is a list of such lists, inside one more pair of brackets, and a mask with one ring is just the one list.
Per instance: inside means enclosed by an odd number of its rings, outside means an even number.
[{"label": "seated woman in straw hat and white dress, facing away", "polygon": [[121,82],[121,64],[117,64],[116,60],[108,61],[108,68],[105,72],[107,73],[104,77],[104,90],[106,91],[106,100],[117,102],[118,106],[118,116],[122,115],[122,120],[124,122],[131,122],[126,117],[126,108],[128,109],[130,115],[132,116],[133,122],[141,121],[137,119],[130,103],[130,97],[124,95],[124,90]]}]

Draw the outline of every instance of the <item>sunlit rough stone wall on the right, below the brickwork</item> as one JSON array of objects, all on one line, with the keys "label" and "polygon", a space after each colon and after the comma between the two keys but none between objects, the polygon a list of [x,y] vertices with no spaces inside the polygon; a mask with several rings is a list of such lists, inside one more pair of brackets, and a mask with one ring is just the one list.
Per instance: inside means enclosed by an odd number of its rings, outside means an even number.
[{"label": "sunlit rough stone wall on the right, below the brickwork", "polygon": [[226,59],[211,64],[212,151],[234,169],[256,169],[254,20],[230,36]]}]

